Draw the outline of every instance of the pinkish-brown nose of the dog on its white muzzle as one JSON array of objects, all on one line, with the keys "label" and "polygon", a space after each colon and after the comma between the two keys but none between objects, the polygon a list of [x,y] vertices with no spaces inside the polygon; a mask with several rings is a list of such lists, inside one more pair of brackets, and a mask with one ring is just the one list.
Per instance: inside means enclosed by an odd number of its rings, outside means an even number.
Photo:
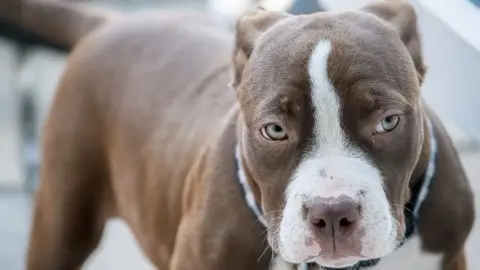
[{"label": "pinkish-brown nose of the dog on its white muzzle", "polygon": [[315,198],[305,205],[306,218],[319,238],[342,238],[357,229],[360,205],[346,196]]}]

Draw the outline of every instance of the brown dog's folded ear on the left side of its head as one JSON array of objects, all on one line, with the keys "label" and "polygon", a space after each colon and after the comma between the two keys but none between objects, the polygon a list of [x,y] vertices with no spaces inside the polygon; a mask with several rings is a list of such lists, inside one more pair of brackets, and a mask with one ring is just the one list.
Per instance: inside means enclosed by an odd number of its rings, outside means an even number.
[{"label": "brown dog's folded ear on the left side of its head", "polygon": [[255,47],[257,39],[270,27],[291,15],[267,11],[255,7],[241,15],[235,26],[235,48],[233,51],[233,76],[230,86],[236,88],[241,81],[243,69]]}]

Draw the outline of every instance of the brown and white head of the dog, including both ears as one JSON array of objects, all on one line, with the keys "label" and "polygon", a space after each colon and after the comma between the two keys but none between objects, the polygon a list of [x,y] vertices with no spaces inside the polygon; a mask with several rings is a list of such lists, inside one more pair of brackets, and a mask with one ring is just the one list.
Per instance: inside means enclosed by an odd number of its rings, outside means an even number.
[{"label": "brown and white head of the dog, including both ears", "polygon": [[273,249],[326,267],[392,252],[424,136],[412,7],[257,9],[237,24],[233,62],[241,149]]}]

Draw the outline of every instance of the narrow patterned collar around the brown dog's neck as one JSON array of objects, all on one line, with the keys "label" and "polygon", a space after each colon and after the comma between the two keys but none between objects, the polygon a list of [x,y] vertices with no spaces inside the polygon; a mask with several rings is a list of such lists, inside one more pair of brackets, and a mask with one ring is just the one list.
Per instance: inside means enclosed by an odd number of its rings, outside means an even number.
[{"label": "narrow patterned collar around the brown dog's neck", "polygon": [[[427,169],[425,174],[423,175],[423,180],[420,181],[415,186],[410,186],[412,197],[410,201],[407,202],[405,205],[404,215],[405,215],[405,223],[406,223],[406,230],[405,230],[405,238],[404,241],[400,244],[402,246],[406,240],[408,240],[414,233],[416,228],[416,223],[419,218],[420,208],[428,196],[430,191],[430,186],[434,180],[435,176],[435,169],[436,169],[436,160],[437,160],[437,139],[435,136],[435,131],[433,129],[433,125],[429,119],[427,119],[428,125],[428,132],[430,137],[430,157],[428,160]],[[248,184],[247,177],[245,176],[245,171],[243,170],[243,162],[242,156],[240,151],[239,144],[235,147],[235,160],[236,160],[236,167],[237,167],[237,182],[243,192],[245,197],[245,202],[247,203],[248,207],[256,217],[256,219],[265,227],[268,227],[268,223],[263,216],[263,211],[261,206],[259,206],[253,196],[252,189]],[[346,268],[325,268],[324,270],[360,270],[365,269],[371,266],[376,265],[380,259],[371,259],[360,261],[354,266],[346,267]],[[298,270],[316,270],[318,269],[317,266],[313,263],[303,263],[300,264],[297,268]],[[320,270],[320,269],[318,269]]]}]

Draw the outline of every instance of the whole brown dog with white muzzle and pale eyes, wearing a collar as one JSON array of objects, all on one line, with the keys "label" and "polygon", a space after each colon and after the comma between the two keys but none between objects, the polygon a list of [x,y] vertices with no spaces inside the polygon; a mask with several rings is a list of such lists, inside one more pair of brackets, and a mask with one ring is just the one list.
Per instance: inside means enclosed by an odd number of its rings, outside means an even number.
[{"label": "whole brown dog with white muzzle and pale eyes, wearing a collar", "polygon": [[473,194],[421,98],[410,3],[252,8],[235,33],[56,1],[17,15],[72,50],[29,270],[81,267],[111,217],[159,269],[467,269]]}]

